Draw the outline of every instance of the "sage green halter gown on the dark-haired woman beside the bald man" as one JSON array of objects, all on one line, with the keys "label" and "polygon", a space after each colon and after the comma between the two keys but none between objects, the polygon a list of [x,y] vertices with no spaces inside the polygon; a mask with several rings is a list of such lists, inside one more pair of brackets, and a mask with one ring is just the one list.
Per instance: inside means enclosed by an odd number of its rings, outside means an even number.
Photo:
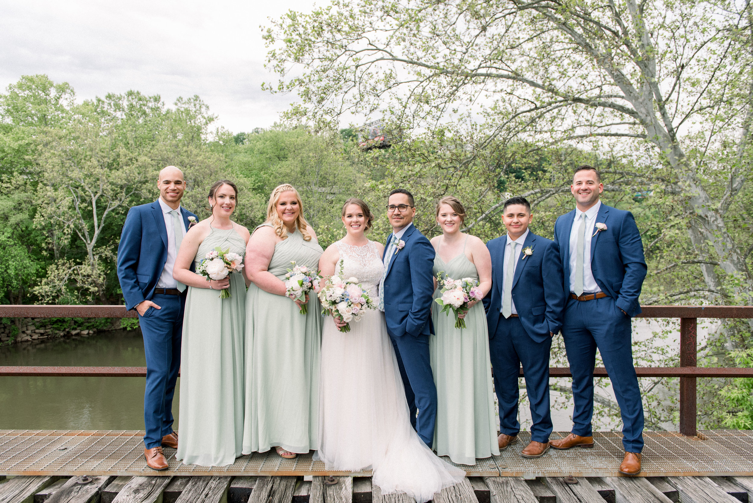
[{"label": "sage green halter gown on the dark-haired woman beside the bald man", "polygon": [[[212,227],[201,242],[198,266],[215,246],[245,254],[234,229]],[[175,458],[186,465],[225,466],[241,455],[245,280],[230,274],[230,298],[188,287],[181,343],[180,440]]]}]

